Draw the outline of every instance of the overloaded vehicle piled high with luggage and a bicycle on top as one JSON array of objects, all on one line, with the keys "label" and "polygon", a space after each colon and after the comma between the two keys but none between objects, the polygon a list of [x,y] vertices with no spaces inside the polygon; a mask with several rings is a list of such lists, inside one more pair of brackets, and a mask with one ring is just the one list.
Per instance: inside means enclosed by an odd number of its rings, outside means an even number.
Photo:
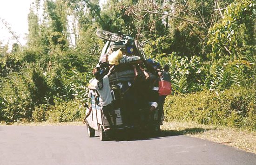
[{"label": "overloaded vehicle piled high with luggage and a bicycle on top", "polygon": [[[159,116],[158,107],[154,103],[157,104],[158,100],[152,101],[150,98],[150,90],[157,90],[159,81],[157,63],[148,60],[141,49],[143,43],[139,43],[129,35],[107,31],[97,31],[96,34],[106,40],[96,67],[100,68],[102,74],[107,74],[109,66],[115,65],[108,79],[116,114],[115,118],[111,117],[111,120],[116,119],[116,126],[107,129],[109,123],[102,112],[99,94],[95,89],[97,80],[94,78],[88,85],[88,105],[91,110],[89,107],[86,110],[86,114],[90,111],[86,125],[89,137],[94,137],[95,131],[99,131],[100,140],[104,141],[111,138],[113,134],[118,135],[119,130],[126,129],[143,133],[159,133],[164,114],[161,113],[162,115]],[[113,54],[115,54],[114,57],[112,57]],[[119,58],[115,59],[117,57]],[[153,112],[150,111],[152,104],[156,107]]]}]

